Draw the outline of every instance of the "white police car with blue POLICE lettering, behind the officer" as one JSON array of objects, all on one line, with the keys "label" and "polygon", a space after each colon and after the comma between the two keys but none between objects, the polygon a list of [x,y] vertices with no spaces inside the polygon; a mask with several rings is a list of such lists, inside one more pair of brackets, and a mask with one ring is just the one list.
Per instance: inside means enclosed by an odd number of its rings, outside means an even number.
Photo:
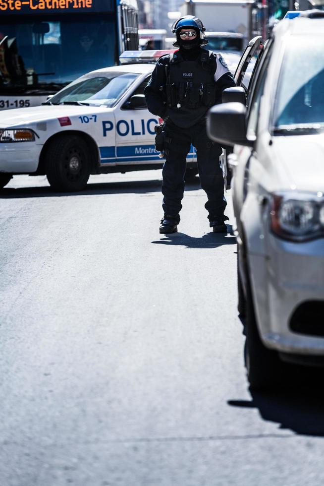
[{"label": "white police car with blue POLICE lettering, behind the officer", "polygon": [[[90,174],[162,167],[146,86],[165,51],[126,52],[123,64],[92,71],[45,106],[5,110],[0,120],[0,187],[12,175],[46,175],[56,190],[82,190]],[[146,63],[141,63],[141,62]],[[193,150],[188,166],[194,166]]]}]

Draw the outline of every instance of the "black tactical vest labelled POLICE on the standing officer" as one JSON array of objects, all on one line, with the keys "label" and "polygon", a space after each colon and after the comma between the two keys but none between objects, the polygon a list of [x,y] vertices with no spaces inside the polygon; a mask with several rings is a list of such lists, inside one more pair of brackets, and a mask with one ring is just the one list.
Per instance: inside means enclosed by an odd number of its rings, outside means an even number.
[{"label": "black tactical vest labelled POLICE on the standing officer", "polygon": [[184,61],[176,52],[165,66],[167,115],[181,127],[201,120],[215,104],[215,63],[213,53],[205,51],[196,61]]}]

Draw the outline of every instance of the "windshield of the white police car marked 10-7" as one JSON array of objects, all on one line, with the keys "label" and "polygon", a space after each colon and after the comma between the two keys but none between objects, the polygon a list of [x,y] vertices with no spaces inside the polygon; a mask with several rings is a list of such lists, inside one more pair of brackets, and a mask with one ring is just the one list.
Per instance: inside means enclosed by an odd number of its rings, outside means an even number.
[{"label": "windshield of the white police car marked 10-7", "polygon": [[131,72],[96,72],[76,79],[49,100],[53,105],[87,104],[113,106],[137,79]]}]

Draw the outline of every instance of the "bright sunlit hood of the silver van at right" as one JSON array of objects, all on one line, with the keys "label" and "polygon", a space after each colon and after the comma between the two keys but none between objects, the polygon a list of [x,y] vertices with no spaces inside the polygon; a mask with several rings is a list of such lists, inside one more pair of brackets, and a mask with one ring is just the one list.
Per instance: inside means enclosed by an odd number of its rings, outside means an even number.
[{"label": "bright sunlit hood of the silver van at right", "polygon": [[323,134],[276,136],[272,142],[275,164],[286,173],[290,188],[324,191]]}]

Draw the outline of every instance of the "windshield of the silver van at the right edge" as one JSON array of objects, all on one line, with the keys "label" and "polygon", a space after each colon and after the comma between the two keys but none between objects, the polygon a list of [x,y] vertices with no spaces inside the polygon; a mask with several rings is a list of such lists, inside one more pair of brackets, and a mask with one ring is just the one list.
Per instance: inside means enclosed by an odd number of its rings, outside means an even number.
[{"label": "windshield of the silver van at the right edge", "polygon": [[290,42],[278,83],[274,128],[324,128],[324,35]]}]

